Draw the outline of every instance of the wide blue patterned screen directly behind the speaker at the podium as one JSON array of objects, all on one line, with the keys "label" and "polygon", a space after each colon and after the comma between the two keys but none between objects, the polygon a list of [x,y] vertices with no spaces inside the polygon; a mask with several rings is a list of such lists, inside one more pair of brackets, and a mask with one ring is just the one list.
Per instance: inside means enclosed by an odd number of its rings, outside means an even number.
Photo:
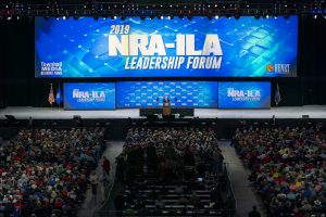
[{"label": "wide blue patterned screen directly behind the speaker at the podium", "polygon": [[117,107],[162,107],[165,95],[168,97],[172,107],[217,107],[217,82],[116,82]]}]

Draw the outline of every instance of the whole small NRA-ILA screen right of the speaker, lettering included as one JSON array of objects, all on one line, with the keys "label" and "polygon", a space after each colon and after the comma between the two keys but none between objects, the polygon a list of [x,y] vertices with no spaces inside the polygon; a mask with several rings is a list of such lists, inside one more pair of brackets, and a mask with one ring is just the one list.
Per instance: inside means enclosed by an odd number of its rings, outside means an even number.
[{"label": "whole small NRA-ILA screen right of the speaker, lettering included", "polygon": [[218,82],[218,108],[269,108],[271,82]]}]

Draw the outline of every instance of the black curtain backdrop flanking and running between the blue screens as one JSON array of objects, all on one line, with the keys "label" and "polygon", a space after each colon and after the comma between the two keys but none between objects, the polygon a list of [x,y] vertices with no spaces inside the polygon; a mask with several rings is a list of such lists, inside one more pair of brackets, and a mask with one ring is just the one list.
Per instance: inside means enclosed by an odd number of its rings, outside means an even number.
[{"label": "black curtain backdrop flanking and running between the blue screens", "polygon": [[[50,84],[57,91],[64,81],[118,79],[38,79],[34,77],[34,22],[0,22],[0,106],[49,106]],[[278,82],[280,106],[326,104],[326,20],[300,18],[297,78],[216,78],[215,80],[271,80],[272,105]],[[156,78],[160,79],[160,78]],[[164,80],[175,78],[161,78]],[[179,78],[177,80],[180,80]],[[205,80],[191,78],[187,80]],[[122,80],[127,80],[126,78]],[[131,80],[131,79],[129,79]],[[134,79],[139,80],[139,79]],[[212,80],[209,78],[209,80]]]}]

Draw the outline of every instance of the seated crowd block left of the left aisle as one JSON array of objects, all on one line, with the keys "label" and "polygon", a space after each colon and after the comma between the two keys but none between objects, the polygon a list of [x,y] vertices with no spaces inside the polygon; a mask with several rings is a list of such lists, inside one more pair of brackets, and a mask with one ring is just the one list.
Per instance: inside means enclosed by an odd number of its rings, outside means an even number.
[{"label": "seated crowd block left of the left aisle", "polygon": [[21,130],[0,146],[3,216],[75,216],[88,176],[105,143],[104,130]]}]

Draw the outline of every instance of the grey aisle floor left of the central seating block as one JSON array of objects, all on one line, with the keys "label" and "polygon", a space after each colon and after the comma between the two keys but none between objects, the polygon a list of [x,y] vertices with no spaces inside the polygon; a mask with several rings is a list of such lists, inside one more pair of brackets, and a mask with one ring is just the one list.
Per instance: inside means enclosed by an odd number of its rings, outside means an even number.
[{"label": "grey aisle floor left of the central seating block", "polygon": [[[97,167],[98,176],[102,173],[102,162],[103,156],[106,156],[111,162],[111,174],[110,174],[110,182],[112,182],[113,176],[115,174],[115,157],[117,157],[123,150],[123,141],[110,141],[110,145],[108,145],[105,152],[103,153],[101,161]],[[86,199],[82,207],[78,209],[78,217],[91,217],[95,210],[98,210],[102,205],[103,199],[101,195],[100,184],[98,186],[97,197],[92,197],[91,188],[87,189]]]}]

